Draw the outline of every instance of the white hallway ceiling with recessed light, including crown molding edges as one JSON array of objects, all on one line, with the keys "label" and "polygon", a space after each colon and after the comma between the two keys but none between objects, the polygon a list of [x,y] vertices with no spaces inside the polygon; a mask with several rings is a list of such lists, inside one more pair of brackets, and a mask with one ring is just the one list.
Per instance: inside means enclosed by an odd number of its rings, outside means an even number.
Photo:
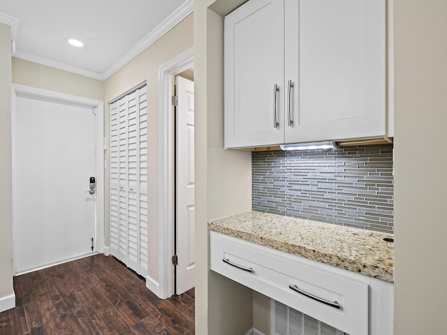
[{"label": "white hallway ceiling with recessed light, including crown molding edges", "polygon": [[0,22],[13,27],[14,57],[105,80],[192,10],[193,0],[0,0]]}]

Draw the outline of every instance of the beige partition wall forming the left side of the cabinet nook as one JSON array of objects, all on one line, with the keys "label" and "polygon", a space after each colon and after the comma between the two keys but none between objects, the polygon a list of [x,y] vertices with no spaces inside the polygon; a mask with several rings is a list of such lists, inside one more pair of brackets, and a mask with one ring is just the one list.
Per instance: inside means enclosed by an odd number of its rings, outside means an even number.
[{"label": "beige partition wall forming the left side of the cabinet nook", "polygon": [[210,271],[207,221],[251,209],[251,154],[223,149],[223,18],[235,1],[194,2],[196,334],[245,334],[252,292]]}]

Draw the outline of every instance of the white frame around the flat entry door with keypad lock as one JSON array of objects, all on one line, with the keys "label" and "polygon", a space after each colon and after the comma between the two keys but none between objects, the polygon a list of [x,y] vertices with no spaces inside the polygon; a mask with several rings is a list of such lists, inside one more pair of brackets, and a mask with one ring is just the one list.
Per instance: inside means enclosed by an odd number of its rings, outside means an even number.
[{"label": "white frame around the flat entry door with keypad lock", "polygon": [[17,243],[15,242],[15,211],[16,211],[16,185],[15,185],[15,131],[16,131],[16,98],[17,94],[23,94],[30,97],[43,98],[50,101],[59,101],[63,103],[72,103],[84,107],[93,108],[96,115],[96,253],[103,253],[104,246],[104,103],[82,96],[73,96],[63,94],[47,89],[37,89],[20,84],[11,85],[11,133],[12,133],[12,168],[13,168],[13,274],[17,273],[14,255],[17,254]]}]

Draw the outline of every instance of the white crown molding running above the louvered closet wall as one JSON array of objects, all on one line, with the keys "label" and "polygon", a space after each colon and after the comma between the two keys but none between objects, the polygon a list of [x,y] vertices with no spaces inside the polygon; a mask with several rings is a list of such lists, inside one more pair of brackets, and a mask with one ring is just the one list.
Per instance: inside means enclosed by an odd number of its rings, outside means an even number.
[{"label": "white crown molding running above the louvered closet wall", "polygon": [[129,63],[131,59],[136,57],[140,52],[145,50],[149,45],[152,45],[156,40],[161,38],[167,31],[173,28],[176,24],[182,21],[186,16],[193,12],[194,3],[193,0],[186,0],[182,6],[177,8],[173,14],[171,14],[166,20],[161,22],[151,33],[147,34],[145,38],[142,38],[129,52],[119,59],[115,64],[109,66],[101,75],[103,80],[106,80],[110,75],[117,72],[124,65]]}]

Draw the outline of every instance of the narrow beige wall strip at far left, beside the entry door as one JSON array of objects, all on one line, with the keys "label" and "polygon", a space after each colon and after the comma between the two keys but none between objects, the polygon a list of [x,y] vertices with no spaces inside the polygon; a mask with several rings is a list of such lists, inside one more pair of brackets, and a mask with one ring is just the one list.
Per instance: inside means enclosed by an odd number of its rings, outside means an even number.
[{"label": "narrow beige wall strip at far left, beside the entry door", "polygon": [[13,294],[11,27],[0,23],[0,299]]}]

